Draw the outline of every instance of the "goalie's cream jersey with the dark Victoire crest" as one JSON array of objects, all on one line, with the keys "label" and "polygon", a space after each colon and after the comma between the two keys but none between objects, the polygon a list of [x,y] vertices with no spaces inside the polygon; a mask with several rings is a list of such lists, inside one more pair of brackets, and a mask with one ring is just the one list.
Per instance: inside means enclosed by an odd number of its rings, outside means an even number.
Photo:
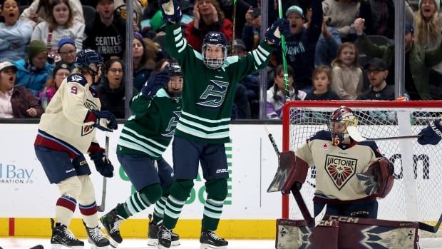
[{"label": "goalie's cream jersey with the dark Victoire crest", "polygon": [[374,141],[332,146],[330,131],[319,131],[295,151],[309,166],[316,166],[319,198],[357,200],[366,198],[356,173],[364,173],[382,155]]}]

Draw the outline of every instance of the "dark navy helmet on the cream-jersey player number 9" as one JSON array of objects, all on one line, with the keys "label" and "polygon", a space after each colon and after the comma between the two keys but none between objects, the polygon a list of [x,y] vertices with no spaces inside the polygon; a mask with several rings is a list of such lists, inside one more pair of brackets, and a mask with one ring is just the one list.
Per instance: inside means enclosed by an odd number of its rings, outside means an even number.
[{"label": "dark navy helmet on the cream-jersey player number 9", "polygon": [[103,68],[103,57],[95,50],[84,49],[78,52],[75,65],[81,71],[87,71],[91,76],[96,76]]}]

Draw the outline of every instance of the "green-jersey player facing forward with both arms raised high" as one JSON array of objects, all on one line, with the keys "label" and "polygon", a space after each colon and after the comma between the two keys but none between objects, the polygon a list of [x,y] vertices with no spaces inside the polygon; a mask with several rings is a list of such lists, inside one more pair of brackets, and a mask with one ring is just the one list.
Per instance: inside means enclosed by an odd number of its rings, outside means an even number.
[{"label": "green-jersey player facing forward with both arms raised high", "polygon": [[207,198],[204,205],[201,248],[226,248],[227,241],[215,234],[227,197],[227,158],[224,143],[229,139],[229,123],[235,84],[250,73],[264,68],[281,34],[289,34],[289,24],[279,19],[266,31],[265,41],[241,59],[227,57],[227,41],[220,32],[210,31],[202,41],[202,54],[194,51],[180,28],[181,10],[177,0],[160,0],[167,21],[165,43],[185,78],[183,111],[173,139],[173,166],[176,181],[166,201],[158,248],[170,248],[171,233],[190,195],[201,163]]}]

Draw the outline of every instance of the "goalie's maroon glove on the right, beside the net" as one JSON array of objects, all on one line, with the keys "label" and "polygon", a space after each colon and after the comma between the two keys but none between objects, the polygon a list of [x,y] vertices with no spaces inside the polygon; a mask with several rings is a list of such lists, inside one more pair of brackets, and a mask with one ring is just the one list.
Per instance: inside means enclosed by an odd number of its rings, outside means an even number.
[{"label": "goalie's maroon glove on the right, beside the net", "polygon": [[376,195],[384,198],[390,193],[394,183],[394,165],[387,158],[379,158],[369,166],[364,173],[357,173],[356,177],[361,183],[366,195]]}]

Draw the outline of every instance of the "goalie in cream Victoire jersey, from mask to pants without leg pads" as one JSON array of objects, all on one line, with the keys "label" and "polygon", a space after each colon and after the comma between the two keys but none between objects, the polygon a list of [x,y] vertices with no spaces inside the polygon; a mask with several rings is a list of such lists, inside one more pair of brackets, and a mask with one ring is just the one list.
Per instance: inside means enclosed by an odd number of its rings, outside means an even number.
[{"label": "goalie in cream Victoire jersey, from mask to pants without leg pads", "polygon": [[341,106],[330,117],[329,131],[315,133],[294,152],[294,168],[283,191],[288,193],[294,184],[300,188],[309,166],[316,166],[315,216],[327,204],[330,215],[376,218],[376,198],[384,198],[393,186],[394,167],[374,141],[363,141],[357,123],[351,109]]}]

